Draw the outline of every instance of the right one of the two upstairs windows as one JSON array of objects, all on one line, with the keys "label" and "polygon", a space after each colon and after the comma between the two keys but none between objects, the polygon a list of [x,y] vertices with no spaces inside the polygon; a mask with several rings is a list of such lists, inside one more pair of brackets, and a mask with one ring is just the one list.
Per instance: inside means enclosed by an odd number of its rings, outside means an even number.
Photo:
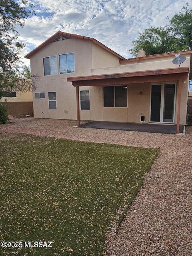
[{"label": "right one of the two upstairs windows", "polygon": [[59,55],[60,74],[75,72],[74,53]]}]

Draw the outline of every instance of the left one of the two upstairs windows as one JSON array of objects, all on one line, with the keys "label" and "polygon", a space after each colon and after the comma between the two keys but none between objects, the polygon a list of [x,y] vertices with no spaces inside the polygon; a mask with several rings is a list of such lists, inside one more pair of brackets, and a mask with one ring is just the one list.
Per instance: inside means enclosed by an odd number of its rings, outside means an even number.
[{"label": "left one of the two upstairs windows", "polygon": [[57,56],[43,58],[44,76],[57,75]]}]

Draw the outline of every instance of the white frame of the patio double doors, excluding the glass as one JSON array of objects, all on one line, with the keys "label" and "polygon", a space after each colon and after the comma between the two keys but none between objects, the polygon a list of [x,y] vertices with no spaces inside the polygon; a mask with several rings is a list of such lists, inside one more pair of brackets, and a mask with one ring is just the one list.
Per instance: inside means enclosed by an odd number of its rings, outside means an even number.
[{"label": "white frame of the patio double doors, excluding the glass", "polygon": [[[164,91],[166,84],[174,84],[175,85],[175,94],[174,94],[174,107],[173,107],[173,122],[163,122],[164,115]],[[161,85],[161,109],[160,109],[160,121],[151,121],[151,90],[152,85]],[[158,124],[174,124],[175,123],[175,108],[176,108],[176,91],[177,91],[177,82],[159,82],[159,83],[150,83],[150,102],[149,102],[149,122],[150,123],[158,123]]]}]

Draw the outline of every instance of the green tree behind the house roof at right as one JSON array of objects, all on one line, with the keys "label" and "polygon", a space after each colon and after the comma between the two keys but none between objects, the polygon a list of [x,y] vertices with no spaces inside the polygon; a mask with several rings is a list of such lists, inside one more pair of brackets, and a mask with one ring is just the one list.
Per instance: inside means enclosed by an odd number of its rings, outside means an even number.
[{"label": "green tree behind the house roof at right", "polygon": [[188,3],[168,20],[167,26],[151,27],[139,33],[132,41],[131,54],[136,56],[140,48],[146,55],[192,49],[192,9]]}]

